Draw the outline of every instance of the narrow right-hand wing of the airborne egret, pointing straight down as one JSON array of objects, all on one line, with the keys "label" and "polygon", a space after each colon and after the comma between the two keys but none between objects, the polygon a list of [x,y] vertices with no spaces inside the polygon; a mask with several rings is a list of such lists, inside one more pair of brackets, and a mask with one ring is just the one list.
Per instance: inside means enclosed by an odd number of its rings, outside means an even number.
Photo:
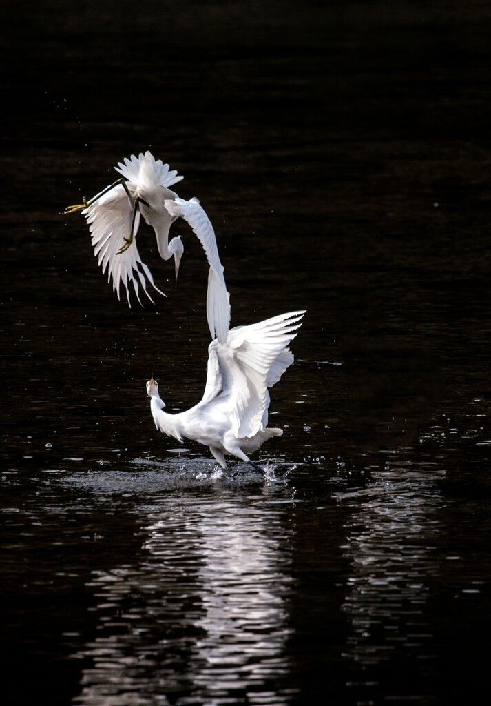
[{"label": "narrow right-hand wing of the airborne egret, pointing straight down", "polygon": [[230,325],[229,292],[226,291],[224,268],[220,262],[217,239],[213,226],[197,198],[186,201],[184,198],[165,201],[166,209],[175,217],[186,220],[201,241],[207,260],[210,263],[206,314],[212,339],[216,336],[225,343]]}]

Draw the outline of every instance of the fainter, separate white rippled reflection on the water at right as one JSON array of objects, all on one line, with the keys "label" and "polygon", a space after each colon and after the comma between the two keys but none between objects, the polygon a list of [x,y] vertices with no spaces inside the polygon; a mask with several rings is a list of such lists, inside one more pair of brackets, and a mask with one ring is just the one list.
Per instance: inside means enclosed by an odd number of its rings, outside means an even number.
[{"label": "fainter, separate white rippled reflection on the water at right", "polygon": [[394,464],[363,489],[337,495],[353,507],[343,546],[352,567],[343,605],[351,620],[345,657],[362,671],[390,662],[398,650],[419,664],[431,658],[425,606],[439,566],[442,475],[430,465]]}]

